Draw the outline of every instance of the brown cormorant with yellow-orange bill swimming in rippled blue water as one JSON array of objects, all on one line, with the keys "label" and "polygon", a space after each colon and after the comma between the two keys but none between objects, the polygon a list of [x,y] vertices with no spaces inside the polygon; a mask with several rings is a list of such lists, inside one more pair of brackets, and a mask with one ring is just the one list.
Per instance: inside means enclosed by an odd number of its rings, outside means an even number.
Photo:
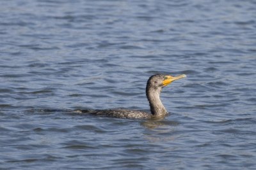
[{"label": "brown cormorant with yellow-orange bill swimming in rippled blue water", "polygon": [[172,81],[184,77],[186,77],[185,74],[174,77],[164,74],[155,74],[153,76],[150,76],[150,78],[147,81],[146,95],[148,103],[150,105],[151,114],[143,111],[126,109],[76,110],[76,112],[115,118],[161,118],[168,114],[160,99],[161,90],[166,85],[172,83]]}]

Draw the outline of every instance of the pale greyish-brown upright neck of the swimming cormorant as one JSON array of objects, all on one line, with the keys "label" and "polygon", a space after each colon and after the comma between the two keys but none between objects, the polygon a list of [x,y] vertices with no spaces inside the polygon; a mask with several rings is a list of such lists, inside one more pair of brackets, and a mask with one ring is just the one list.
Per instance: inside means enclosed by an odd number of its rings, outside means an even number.
[{"label": "pale greyish-brown upright neck of the swimming cormorant", "polygon": [[161,102],[160,92],[161,90],[148,90],[147,92],[150,111],[154,117],[163,117],[168,113]]}]

